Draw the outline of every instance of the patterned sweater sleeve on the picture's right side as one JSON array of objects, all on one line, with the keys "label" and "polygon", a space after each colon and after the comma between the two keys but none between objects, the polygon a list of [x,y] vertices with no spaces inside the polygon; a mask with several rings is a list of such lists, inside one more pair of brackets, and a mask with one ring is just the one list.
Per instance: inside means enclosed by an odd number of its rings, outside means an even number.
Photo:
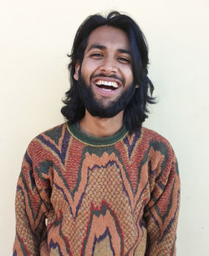
[{"label": "patterned sweater sleeve on the picture's right side", "polygon": [[[175,154],[161,161],[146,206],[145,256],[175,256],[176,227],[180,205],[180,179]],[[166,163],[165,163],[166,162]]]}]

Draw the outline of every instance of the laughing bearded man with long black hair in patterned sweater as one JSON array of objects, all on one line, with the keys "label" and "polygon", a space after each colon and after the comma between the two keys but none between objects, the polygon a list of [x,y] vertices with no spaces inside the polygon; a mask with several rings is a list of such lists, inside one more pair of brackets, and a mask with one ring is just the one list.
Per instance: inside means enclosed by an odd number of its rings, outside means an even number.
[{"label": "laughing bearded man with long black hair in patterned sweater", "polygon": [[141,126],[154,102],[144,35],[126,15],[93,15],[70,58],[68,122],[23,159],[13,255],[176,255],[176,157]]}]

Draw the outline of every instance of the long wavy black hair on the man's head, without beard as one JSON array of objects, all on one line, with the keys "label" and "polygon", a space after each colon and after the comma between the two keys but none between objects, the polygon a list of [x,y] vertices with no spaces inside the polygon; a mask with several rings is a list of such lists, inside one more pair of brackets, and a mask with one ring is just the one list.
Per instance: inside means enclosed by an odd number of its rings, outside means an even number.
[{"label": "long wavy black hair on the man's head, without beard", "polygon": [[107,17],[103,17],[100,14],[91,15],[80,25],[74,38],[71,54],[69,55],[69,80],[71,86],[69,91],[65,93],[63,101],[65,105],[62,107],[61,112],[71,124],[77,123],[80,119],[84,118],[84,103],[79,97],[78,81],[74,80],[75,65],[77,62],[80,65],[82,64],[89,34],[94,29],[104,25],[123,30],[130,40],[134,83],[139,85],[139,88],[135,90],[134,96],[124,109],[123,123],[127,130],[133,133],[141,127],[145,118],[148,117],[147,104],[155,103],[155,98],[152,97],[154,86],[147,76],[149,59],[145,36],[132,18],[119,12],[111,12]]}]

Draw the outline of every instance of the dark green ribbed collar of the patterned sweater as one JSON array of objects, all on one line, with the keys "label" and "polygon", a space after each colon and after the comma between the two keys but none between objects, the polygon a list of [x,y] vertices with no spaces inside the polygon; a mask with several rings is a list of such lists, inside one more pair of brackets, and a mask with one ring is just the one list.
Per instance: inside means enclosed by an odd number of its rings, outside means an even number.
[{"label": "dark green ribbed collar of the patterned sweater", "polygon": [[74,124],[67,123],[67,128],[69,130],[69,133],[71,133],[71,135],[74,138],[78,139],[80,142],[84,144],[89,144],[95,147],[103,147],[103,146],[109,146],[109,145],[115,144],[121,138],[124,138],[125,135],[128,133],[125,126],[123,126],[122,128],[120,128],[120,130],[117,133],[115,133],[110,137],[97,138],[81,132],[79,128],[77,128],[76,123]]}]

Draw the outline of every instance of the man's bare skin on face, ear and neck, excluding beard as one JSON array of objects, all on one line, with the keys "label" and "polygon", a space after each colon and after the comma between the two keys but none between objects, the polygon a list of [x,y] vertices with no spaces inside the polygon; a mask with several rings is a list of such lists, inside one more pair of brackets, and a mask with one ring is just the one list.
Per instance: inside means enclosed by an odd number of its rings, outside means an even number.
[{"label": "man's bare skin on face, ear and neck, excluding beard", "polygon": [[[75,66],[74,79],[78,81],[79,70],[86,85],[92,86],[94,97],[105,107],[120,97],[133,82],[129,39],[121,29],[101,26],[89,35],[82,65]],[[111,77],[111,76],[114,76]],[[104,91],[96,82],[115,81],[118,88]],[[124,111],[113,118],[93,117],[85,110],[79,128],[94,137],[108,137],[117,133],[123,125]]]}]

